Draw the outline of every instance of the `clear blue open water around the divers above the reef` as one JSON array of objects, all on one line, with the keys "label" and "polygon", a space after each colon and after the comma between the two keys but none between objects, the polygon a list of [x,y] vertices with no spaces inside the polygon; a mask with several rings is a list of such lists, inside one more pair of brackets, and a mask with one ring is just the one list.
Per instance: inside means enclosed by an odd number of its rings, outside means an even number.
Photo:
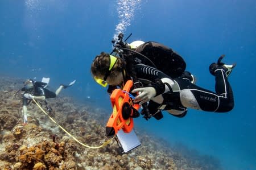
[{"label": "clear blue open water around the divers above the reef", "polygon": [[130,42],[153,40],[177,51],[203,88],[214,90],[208,67],[225,54],[226,63],[237,63],[229,78],[232,111],[189,110],[181,119],[164,113],[160,121],[136,119],[135,128],[213,155],[224,169],[256,169],[256,1],[123,2],[133,17],[121,18],[117,1],[0,1],[0,76],[51,77],[52,88],[76,79],[63,93],[110,114],[109,96],[92,80],[90,64],[111,51],[121,20],[128,22],[125,35],[133,33]]}]

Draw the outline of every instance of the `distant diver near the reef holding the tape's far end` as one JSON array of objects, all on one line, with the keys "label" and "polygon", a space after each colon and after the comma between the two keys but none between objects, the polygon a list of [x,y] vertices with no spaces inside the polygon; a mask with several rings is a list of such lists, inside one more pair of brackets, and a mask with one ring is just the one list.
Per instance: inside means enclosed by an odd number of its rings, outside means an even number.
[{"label": "distant diver near the reef holding the tape's far end", "polygon": [[44,101],[46,104],[46,109],[50,112],[52,109],[46,102],[46,98],[55,98],[59,95],[62,89],[66,89],[69,86],[75,84],[76,80],[72,81],[69,85],[60,85],[56,92],[51,92],[46,89],[48,85],[46,82],[33,81],[32,79],[26,80],[24,82],[24,87],[21,89],[24,91],[22,97],[23,103],[23,114],[24,114],[24,125],[27,124],[27,105],[32,101],[32,99]]}]

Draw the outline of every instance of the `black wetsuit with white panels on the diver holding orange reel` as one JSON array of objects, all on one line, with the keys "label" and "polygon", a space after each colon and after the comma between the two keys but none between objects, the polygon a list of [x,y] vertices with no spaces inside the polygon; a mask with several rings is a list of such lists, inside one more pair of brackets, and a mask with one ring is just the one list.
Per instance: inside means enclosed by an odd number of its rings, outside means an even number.
[{"label": "black wetsuit with white panels on the diver holding orange reel", "polygon": [[[229,85],[225,71],[222,69],[215,72],[216,93],[200,88],[185,78],[171,78],[148,65],[137,64],[135,70],[144,87],[150,86],[151,82],[158,78],[166,84],[165,91],[161,94],[163,101],[152,98],[149,105],[158,106],[158,109],[167,110],[171,114],[174,112],[173,115],[177,117],[184,117],[187,113],[187,107],[213,112],[227,112],[234,107],[232,88]],[[152,101],[158,101],[158,103],[161,101],[161,103],[158,104]]]}]

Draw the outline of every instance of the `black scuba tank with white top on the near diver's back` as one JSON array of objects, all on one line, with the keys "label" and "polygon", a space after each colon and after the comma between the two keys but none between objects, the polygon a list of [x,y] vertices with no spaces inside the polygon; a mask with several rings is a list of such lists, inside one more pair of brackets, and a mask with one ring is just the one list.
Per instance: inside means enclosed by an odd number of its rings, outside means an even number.
[{"label": "black scuba tank with white top on the near diver's back", "polygon": [[[134,50],[133,58],[137,63],[142,63],[166,73],[171,78],[183,78],[196,83],[196,77],[185,71],[186,63],[183,58],[166,45],[157,42],[134,41],[125,45]],[[116,86],[109,85],[108,92],[112,93]]]}]

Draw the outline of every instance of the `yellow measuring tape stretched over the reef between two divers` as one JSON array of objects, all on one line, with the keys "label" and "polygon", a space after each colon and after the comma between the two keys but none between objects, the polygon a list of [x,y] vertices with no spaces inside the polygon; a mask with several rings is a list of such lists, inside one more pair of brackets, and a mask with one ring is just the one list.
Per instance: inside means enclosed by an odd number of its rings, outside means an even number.
[{"label": "yellow measuring tape stretched over the reef between two divers", "polygon": [[48,113],[46,113],[46,111],[44,111],[44,110],[42,109],[42,107],[38,104],[38,102],[35,101],[34,98],[33,98],[33,101],[36,103],[36,105],[38,105],[38,107],[43,111],[43,113],[46,114],[46,115],[52,120],[52,122],[54,122],[54,123],[55,123],[57,126],[59,126],[64,132],[66,132],[69,136],[71,136],[77,143],[81,144],[81,145],[84,146],[84,147],[88,147],[88,148],[92,148],[92,149],[102,148],[102,147],[105,147],[106,145],[108,145],[108,144],[114,139],[114,137],[115,137],[115,136],[114,136],[113,138],[107,140],[107,141],[104,142],[101,146],[96,146],[96,147],[88,146],[88,145],[86,145],[86,144],[80,142],[79,140],[77,140],[77,139],[75,138],[75,136],[71,135],[67,130],[65,130],[65,128],[63,128],[62,126],[60,126],[59,123],[57,123],[53,118],[51,118],[51,117],[49,116]]}]

